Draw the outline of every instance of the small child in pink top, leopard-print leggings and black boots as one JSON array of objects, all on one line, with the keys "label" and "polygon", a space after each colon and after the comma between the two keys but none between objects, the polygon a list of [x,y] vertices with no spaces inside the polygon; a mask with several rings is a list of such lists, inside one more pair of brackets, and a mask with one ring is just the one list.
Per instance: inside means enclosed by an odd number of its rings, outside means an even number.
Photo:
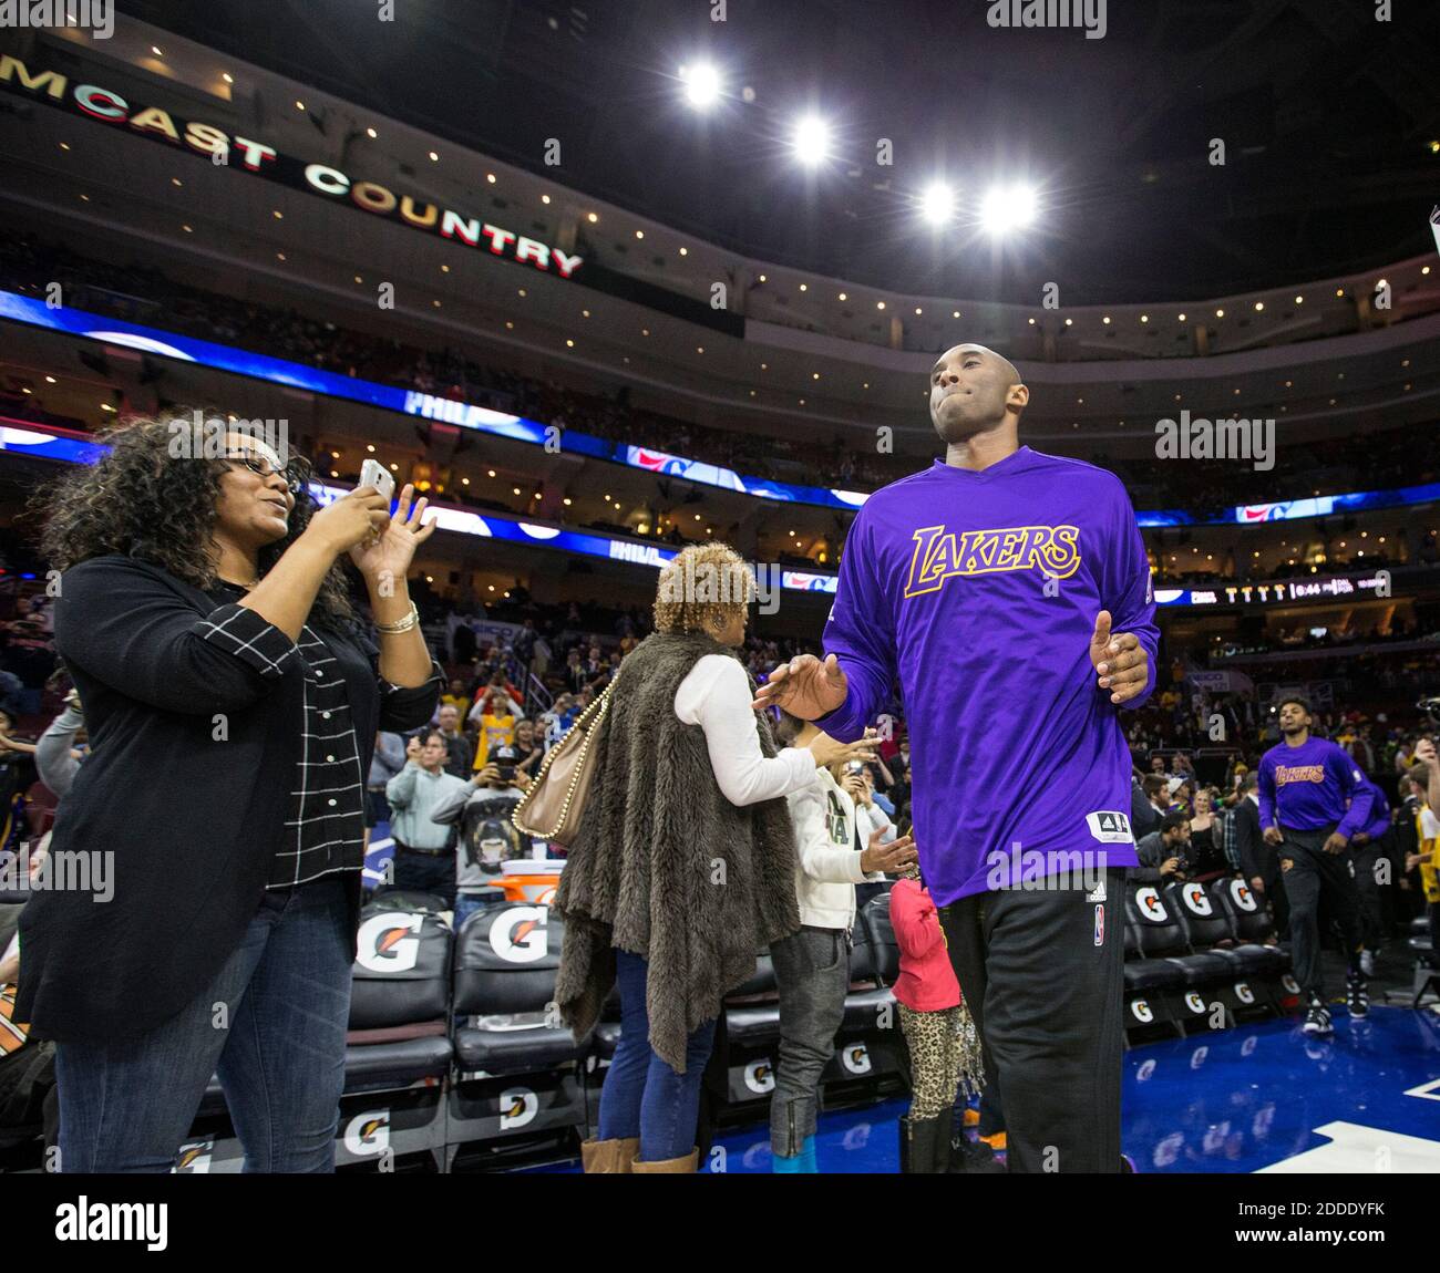
[{"label": "small child in pink top, leopard-print leggings and black boots", "polygon": [[975,1023],[919,867],[912,866],[891,888],[890,923],[900,946],[894,997],[912,1072],[910,1116],[900,1121],[901,1171],[949,1171],[956,1087],[973,1095],[984,1070]]}]

